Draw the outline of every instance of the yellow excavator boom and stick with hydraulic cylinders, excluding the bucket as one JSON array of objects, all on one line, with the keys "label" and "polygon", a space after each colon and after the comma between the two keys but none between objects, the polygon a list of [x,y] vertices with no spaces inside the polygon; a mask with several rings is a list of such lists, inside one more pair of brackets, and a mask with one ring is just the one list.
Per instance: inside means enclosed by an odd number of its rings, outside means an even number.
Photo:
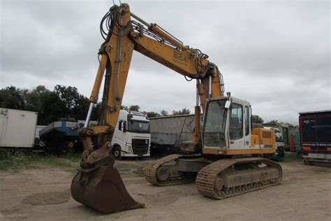
[{"label": "yellow excavator boom and stick with hydraulic cylinders, excluding the bucket", "polygon": [[[207,60],[207,55],[200,52],[200,50],[184,45],[157,24],[147,24],[140,17],[131,13],[126,3],[110,8],[103,21],[107,20],[108,17],[112,17],[112,20],[108,27],[109,31],[105,42],[99,50],[101,60],[89,99],[91,102],[89,113],[84,129],[80,131],[85,150],[89,152],[93,150],[91,135],[101,135],[101,138],[98,139],[98,146],[112,140],[133,50],[182,74],[185,78],[195,78],[197,82],[196,106],[198,107],[196,110],[201,109],[199,100],[202,110],[204,110],[208,97],[223,96],[221,73],[215,64]],[[131,20],[131,17],[138,20],[138,22]],[[101,23],[101,27],[102,25]],[[88,127],[93,104],[98,101],[98,93],[101,89],[104,73],[105,85],[98,126]],[[200,111],[196,113],[196,116],[200,116]],[[196,129],[196,131],[199,130]],[[200,141],[198,133],[195,134],[193,140],[198,145]]]}]

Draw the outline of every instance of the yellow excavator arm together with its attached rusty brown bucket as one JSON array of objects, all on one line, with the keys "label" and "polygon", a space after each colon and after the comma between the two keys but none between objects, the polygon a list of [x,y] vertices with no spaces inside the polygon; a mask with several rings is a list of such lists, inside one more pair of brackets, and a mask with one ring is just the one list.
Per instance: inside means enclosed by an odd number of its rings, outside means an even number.
[{"label": "yellow excavator arm together with its attached rusty brown bucket", "polygon": [[[105,31],[105,28],[107,29]],[[200,145],[200,113],[206,100],[223,96],[223,79],[217,66],[198,49],[184,45],[157,24],[148,24],[131,13],[128,4],[112,6],[101,21],[105,38],[98,52],[98,72],[91,92],[89,112],[80,136],[84,146],[81,168],[73,179],[71,192],[76,201],[108,213],[129,208],[141,208],[125,189],[112,156],[112,136],[119,117],[126,79],[133,50],[142,53],[169,69],[182,74],[186,80],[196,79],[196,125],[193,133],[195,148]],[[89,127],[94,104],[98,102],[104,79],[98,125]],[[97,144],[91,140],[98,136]]]}]

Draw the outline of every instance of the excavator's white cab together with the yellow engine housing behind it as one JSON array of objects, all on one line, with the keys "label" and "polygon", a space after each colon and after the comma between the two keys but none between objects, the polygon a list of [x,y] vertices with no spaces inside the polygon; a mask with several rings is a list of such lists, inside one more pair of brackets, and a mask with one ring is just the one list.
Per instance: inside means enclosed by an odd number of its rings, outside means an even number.
[{"label": "excavator's white cab together with the yellow engine housing behind it", "polygon": [[251,105],[231,97],[207,99],[202,128],[203,153],[215,155],[263,154],[276,151],[274,131],[253,128]]}]

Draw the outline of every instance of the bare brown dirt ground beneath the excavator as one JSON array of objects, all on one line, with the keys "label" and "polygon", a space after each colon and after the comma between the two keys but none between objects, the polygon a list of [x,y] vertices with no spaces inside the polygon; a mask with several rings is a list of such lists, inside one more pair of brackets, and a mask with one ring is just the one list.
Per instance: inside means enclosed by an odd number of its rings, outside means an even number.
[{"label": "bare brown dirt ground beneath the excavator", "polygon": [[208,199],[194,183],[150,185],[143,177],[149,160],[123,160],[126,188],[146,208],[101,214],[71,198],[75,169],[0,172],[0,220],[330,220],[331,169],[283,162],[281,185],[223,200]]}]

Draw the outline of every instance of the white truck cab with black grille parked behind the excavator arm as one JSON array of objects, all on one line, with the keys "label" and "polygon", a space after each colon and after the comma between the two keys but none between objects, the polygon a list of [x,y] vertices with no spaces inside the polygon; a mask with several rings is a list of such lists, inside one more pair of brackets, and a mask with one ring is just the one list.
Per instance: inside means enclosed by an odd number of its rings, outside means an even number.
[{"label": "white truck cab with black grille parked behind the excavator arm", "polygon": [[121,110],[112,138],[113,155],[121,157],[149,157],[151,132],[148,117],[140,112]]}]

